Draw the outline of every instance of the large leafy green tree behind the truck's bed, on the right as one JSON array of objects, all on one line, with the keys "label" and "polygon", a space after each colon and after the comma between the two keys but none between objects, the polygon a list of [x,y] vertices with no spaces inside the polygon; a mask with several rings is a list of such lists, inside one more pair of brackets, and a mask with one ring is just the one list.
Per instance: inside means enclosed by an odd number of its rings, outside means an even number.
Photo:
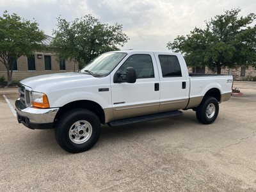
[{"label": "large leafy green tree behind the truck's bed, on the right", "polygon": [[182,52],[189,66],[207,66],[217,74],[225,67],[255,65],[256,15],[238,17],[239,12],[240,9],[232,9],[216,15],[205,22],[205,29],[195,28],[189,35],[168,42],[168,49]]}]

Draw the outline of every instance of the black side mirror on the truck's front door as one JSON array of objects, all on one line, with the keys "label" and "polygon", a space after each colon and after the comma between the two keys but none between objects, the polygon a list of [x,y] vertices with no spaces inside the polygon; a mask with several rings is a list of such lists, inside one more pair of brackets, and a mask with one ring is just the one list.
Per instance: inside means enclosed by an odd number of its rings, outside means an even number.
[{"label": "black side mirror on the truck's front door", "polygon": [[136,82],[136,71],[133,67],[127,67],[126,72],[122,73],[117,71],[114,75],[114,83],[135,83]]}]

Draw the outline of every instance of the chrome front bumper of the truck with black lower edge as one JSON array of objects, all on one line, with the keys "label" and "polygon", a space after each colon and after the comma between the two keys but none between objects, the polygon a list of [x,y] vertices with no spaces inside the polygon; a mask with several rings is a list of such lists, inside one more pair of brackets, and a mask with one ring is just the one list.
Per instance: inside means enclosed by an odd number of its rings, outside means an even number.
[{"label": "chrome front bumper of the truck with black lower edge", "polygon": [[51,129],[59,108],[26,108],[20,99],[15,101],[17,119],[29,129]]}]

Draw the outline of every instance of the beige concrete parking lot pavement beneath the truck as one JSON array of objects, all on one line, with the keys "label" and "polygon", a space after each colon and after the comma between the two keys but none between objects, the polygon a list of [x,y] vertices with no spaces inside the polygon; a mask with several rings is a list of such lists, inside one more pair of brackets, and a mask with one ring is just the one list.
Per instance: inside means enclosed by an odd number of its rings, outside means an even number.
[{"label": "beige concrete parking lot pavement beneath the truck", "polygon": [[91,150],[68,154],[54,130],[17,123],[17,90],[0,89],[1,191],[256,191],[256,83],[220,104],[211,125],[195,112],[102,127]]}]

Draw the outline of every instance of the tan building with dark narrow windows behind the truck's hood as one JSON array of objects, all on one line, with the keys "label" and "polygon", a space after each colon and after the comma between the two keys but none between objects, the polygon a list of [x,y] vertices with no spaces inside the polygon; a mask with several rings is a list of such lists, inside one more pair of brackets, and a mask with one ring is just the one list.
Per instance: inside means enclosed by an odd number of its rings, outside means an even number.
[{"label": "tan building with dark narrow windows behind the truck's hood", "polygon": [[[52,37],[42,41],[42,44],[49,46]],[[74,61],[60,60],[54,52],[35,52],[31,57],[21,56],[13,67],[12,80],[20,81],[27,77],[43,74],[54,74],[60,72],[76,72],[78,64]],[[0,65],[0,77],[7,79],[7,72],[4,65]]]}]

